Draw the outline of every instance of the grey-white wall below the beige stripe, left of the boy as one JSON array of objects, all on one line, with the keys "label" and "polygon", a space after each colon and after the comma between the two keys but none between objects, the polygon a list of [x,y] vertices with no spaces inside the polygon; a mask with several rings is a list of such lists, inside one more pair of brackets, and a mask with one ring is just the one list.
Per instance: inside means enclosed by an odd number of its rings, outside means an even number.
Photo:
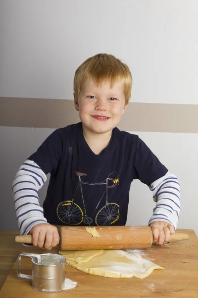
[{"label": "grey-white wall below the beige stripe, left of the boy", "polygon": [[[24,160],[38,149],[52,131],[53,129],[45,128],[0,127],[0,229],[18,230],[12,199],[12,181]],[[39,191],[41,205],[48,182]]]}]

